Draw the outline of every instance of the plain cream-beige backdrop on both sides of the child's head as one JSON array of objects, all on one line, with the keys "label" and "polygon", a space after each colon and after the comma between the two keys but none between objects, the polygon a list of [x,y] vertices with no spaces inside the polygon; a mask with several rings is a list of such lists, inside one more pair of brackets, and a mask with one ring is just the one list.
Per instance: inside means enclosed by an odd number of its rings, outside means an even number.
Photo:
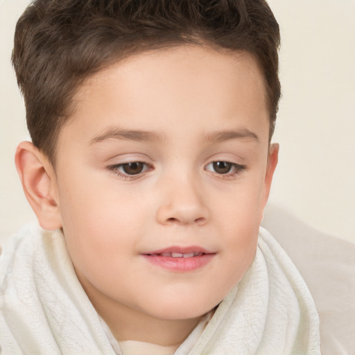
[{"label": "plain cream-beige backdrop on both sides of the child's head", "polygon": [[[15,22],[28,0],[0,0],[0,236],[34,218],[13,156],[28,139],[10,66]],[[282,30],[280,150],[270,201],[355,243],[355,1],[270,0]]]}]

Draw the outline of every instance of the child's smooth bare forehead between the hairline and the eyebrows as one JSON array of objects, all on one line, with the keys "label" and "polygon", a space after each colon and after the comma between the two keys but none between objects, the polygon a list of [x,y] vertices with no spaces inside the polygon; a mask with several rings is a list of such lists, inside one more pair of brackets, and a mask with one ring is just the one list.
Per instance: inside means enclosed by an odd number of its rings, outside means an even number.
[{"label": "child's smooth bare forehead between the hairline and the eyebrows", "polygon": [[174,132],[181,126],[186,134],[193,121],[208,134],[216,122],[223,129],[233,117],[249,130],[261,121],[268,126],[265,85],[252,55],[202,46],[144,52],[116,62],[80,87],[74,107],[71,123],[90,126],[96,135],[122,123],[144,130],[174,126]]}]

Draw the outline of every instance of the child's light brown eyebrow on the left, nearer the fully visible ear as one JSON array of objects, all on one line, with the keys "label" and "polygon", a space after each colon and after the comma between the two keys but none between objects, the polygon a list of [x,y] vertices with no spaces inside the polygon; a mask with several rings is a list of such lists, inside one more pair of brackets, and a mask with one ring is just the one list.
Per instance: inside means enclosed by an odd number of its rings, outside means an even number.
[{"label": "child's light brown eyebrow on the left, nearer the fully visible ear", "polygon": [[91,139],[90,145],[112,138],[129,141],[162,141],[164,140],[164,135],[146,130],[125,130],[121,128],[108,128],[107,130],[105,130],[105,132]]}]

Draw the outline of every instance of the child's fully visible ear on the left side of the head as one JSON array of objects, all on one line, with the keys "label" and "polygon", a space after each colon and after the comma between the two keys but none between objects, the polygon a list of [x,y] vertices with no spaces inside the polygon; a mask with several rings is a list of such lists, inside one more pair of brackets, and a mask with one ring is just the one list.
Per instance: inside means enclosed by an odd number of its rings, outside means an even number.
[{"label": "child's fully visible ear on the left side of the head", "polygon": [[53,166],[29,141],[19,144],[15,164],[28,202],[45,230],[62,227],[59,194]]}]

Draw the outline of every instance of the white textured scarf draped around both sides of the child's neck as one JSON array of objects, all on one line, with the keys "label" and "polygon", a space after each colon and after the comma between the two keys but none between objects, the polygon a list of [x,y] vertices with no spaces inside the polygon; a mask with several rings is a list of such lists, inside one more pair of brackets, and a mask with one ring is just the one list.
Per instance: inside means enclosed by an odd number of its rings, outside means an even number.
[{"label": "white textured scarf draped around both sides of the child's neck", "polygon": [[[252,266],[220,303],[189,355],[318,355],[318,323],[302,277],[261,228]],[[4,246],[0,347],[3,355],[115,354],[60,231],[28,227]]]}]

